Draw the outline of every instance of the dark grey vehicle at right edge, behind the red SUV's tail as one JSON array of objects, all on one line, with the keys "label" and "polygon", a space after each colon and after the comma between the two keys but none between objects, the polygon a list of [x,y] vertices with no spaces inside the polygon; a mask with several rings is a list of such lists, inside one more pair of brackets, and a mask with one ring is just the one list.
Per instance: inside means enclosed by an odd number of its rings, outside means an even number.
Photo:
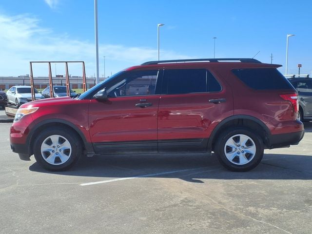
[{"label": "dark grey vehicle at right edge, behind the red SUV's tail", "polygon": [[312,78],[290,78],[289,81],[299,96],[298,118],[301,121],[312,120]]}]

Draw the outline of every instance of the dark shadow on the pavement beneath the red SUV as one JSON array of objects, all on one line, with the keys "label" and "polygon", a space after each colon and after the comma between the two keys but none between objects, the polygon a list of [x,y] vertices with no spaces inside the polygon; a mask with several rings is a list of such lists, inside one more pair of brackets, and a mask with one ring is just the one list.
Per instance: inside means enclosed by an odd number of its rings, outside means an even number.
[{"label": "dark shadow on the pavement beneath the red SUV", "polygon": [[[312,156],[265,154],[261,163],[244,173],[223,168],[216,156],[195,155],[114,155],[81,158],[73,169],[49,172],[38,163],[31,171],[64,176],[90,176],[105,179],[121,177],[180,178],[203,183],[202,179],[312,179]],[[174,172],[174,173],[168,173]],[[168,173],[168,174],[164,174]],[[157,174],[157,175],[155,175]]]}]

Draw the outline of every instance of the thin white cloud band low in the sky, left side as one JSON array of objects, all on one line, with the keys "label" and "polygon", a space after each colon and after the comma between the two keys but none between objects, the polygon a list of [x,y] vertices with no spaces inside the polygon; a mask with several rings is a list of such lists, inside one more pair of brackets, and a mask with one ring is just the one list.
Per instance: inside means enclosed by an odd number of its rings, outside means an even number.
[{"label": "thin white cloud band low in the sky, left side", "polygon": [[[95,46],[94,42],[71,39],[70,35],[58,34],[39,25],[40,20],[29,16],[6,16],[0,14],[0,77],[29,74],[29,61],[64,61],[83,60],[87,75],[94,75]],[[188,59],[174,51],[160,51],[161,59]],[[156,60],[156,48],[127,47],[116,44],[100,44],[99,59],[105,56],[108,73],[148,60]],[[103,68],[100,63],[100,74]],[[36,71],[35,76],[47,74],[47,69]],[[81,71],[71,74],[80,75]]]}]

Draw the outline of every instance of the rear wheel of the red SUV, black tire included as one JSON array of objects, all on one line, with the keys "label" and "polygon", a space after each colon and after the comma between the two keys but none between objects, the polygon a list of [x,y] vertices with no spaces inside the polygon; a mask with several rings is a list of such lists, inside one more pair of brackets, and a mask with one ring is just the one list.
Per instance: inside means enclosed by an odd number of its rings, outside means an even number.
[{"label": "rear wheel of the red SUV, black tire included", "polygon": [[[245,144],[244,142],[239,143],[241,139],[248,139],[248,141]],[[231,140],[233,140],[234,148],[230,146],[230,143],[227,143],[231,142]],[[234,156],[232,160],[227,158],[226,152],[228,152],[229,157],[230,155],[231,158]],[[219,135],[215,145],[215,153],[220,163],[234,172],[246,172],[254,169],[260,163],[263,152],[264,147],[261,138],[245,127],[232,127],[225,130]]]}]

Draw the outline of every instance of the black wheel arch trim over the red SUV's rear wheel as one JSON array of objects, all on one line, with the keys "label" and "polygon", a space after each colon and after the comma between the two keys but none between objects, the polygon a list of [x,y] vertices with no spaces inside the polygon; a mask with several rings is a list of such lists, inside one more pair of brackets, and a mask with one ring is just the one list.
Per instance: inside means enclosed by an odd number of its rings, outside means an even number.
[{"label": "black wheel arch trim over the red SUV's rear wheel", "polygon": [[269,138],[271,135],[269,128],[255,117],[237,115],[225,118],[215,127],[208,140],[207,148],[209,151],[214,151],[218,136],[230,126],[244,126],[254,130],[261,137],[263,144],[269,147]]}]

